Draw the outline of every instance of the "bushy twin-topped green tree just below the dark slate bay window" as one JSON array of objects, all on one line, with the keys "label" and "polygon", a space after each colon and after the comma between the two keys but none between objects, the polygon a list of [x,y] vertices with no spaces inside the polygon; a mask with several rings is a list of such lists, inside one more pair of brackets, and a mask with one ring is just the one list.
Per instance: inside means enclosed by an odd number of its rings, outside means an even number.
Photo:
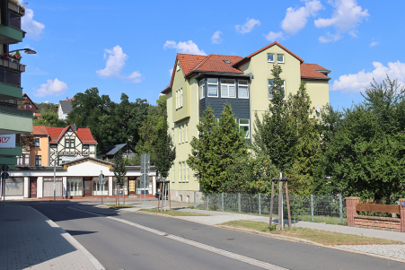
[{"label": "bushy twin-topped green tree just below the dark slate bay window", "polygon": [[236,161],[247,155],[246,141],[235,122],[231,105],[225,105],[219,123],[213,110],[206,109],[197,128],[199,135],[190,143],[192,152],[187,163],[195,170],[205,193],[223,192]]}]

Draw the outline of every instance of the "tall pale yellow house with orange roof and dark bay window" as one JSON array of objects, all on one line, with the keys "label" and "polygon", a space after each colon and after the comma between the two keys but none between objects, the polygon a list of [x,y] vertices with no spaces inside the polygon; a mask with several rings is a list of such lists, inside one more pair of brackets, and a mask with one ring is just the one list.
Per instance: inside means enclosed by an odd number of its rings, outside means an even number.
[{"label": "tall pale yellow house with orange roof and dark bay window", "polygon": [[236,121],[246,140],[252,140],[255,113],[259,117],[269,109],[271,69],[280,65],[286,96],[298,91],[304,83],[319,117],[322,106],[329,102],[330,70],[317,64],[306,64],[277,41],[247,57],[177,54],[170,85],[162,91],[167,96],[169,132],[176,146],[172,167],[172,197],[192,201],[199,190],[195,171],[187,159],[190,141],[198,137],[197,125],[205,109],[214,110],[216,118],[226,103],[231,104]]}]

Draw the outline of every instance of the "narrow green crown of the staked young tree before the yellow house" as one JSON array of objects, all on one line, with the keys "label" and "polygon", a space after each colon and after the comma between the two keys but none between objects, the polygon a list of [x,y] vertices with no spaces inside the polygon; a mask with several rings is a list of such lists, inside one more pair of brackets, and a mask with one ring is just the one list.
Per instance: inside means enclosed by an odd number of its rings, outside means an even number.
[{"label": "narrow green crown of the staked young tree before the yellow house", "polygon": [[271,69],[273,82],[269,87],[272,97],[267,110],[260,120],[255,114],[254,141],[255,152],[269,157],[280,173],[291,167],[295,157],[297,135],[294,121],[288,113],[283,81],[280,79],[282,70],[279,65]]}]

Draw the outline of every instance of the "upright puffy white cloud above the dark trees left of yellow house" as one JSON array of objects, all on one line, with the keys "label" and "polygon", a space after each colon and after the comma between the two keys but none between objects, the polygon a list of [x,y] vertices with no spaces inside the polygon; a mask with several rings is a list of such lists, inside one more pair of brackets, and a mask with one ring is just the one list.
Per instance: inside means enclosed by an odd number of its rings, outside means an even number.
[{"label": "upright puffy white cloud above the dark trees left of yellow house", "polygon": [[132,74],[125,76],[121,74],[128,56],[124,53],[122,48],[117,45],[112,49],[104,49],[104,59],[107,58],[107,63],[104,69],[97,70],[96,73],[101,77],[118,77],[119,79],[126,80],[132,83],[140,83],[142,75],[136,71]]}]

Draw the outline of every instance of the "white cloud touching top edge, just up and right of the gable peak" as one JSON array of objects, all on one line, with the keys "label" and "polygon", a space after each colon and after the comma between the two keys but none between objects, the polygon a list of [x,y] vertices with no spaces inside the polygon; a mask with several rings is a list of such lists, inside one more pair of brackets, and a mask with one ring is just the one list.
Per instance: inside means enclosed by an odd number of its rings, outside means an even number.
[{"label": "white cloud touching top edge, just up and right of the gable peak", "polygon": [[308,17],[315,16],[321,9],[323,9],[323,5],[319,0],[305,1],[305,6],[297,9],[288,7],[286,17],[281,22],[281,28],[294,35],[304,28],[306,22],[308,22]]}]

